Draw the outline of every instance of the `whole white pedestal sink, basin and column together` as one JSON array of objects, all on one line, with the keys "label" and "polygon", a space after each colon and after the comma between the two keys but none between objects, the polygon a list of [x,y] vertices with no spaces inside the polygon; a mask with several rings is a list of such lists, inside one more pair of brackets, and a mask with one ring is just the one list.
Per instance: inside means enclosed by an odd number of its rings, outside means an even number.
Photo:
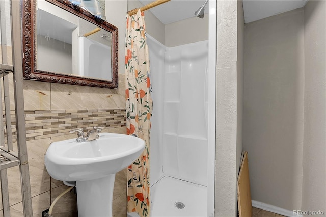
[{"label": "whole white pedestal sink, basin and column together", "polygon": [[45,154],[49,175],[75,181],[78,216],[112,216],[115,174],[132,164],[145,148],[144,140],[130,135],[99,133],[99,139],[54,142]]}]

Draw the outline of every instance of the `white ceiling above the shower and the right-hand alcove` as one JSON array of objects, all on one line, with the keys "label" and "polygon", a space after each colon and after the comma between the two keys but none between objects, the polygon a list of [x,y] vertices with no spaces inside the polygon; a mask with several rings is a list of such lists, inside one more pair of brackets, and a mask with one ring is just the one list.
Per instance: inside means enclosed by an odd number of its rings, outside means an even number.
[{"label": "white ceiling above the shower and the right-hand alcove", "polygon": [[[308,0],[243,0],[244,21],[246,23],[303,7]],[[154,2],[140,0],[143,5]],[[219,2],[219,0],[218,0]],[[205,0],[171,0],[149,9],[163,24],[194,17],[195,11]],[[208,13],[208,4],[205,7]],[[198,18],[200,19],[200,18]]]}]

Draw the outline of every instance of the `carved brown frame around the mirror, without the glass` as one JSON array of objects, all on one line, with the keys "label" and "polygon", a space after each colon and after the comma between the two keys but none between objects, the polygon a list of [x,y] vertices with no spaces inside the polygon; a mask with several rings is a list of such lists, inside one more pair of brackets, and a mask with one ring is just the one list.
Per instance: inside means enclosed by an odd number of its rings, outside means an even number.
[{"label": "carved brown frame around the mirror, without the glass", "polygon": [[68,0],[46,0],[76,16],[83,18],[100,28],[112,33],[112,81],[93,79],[37,70],[36,68],[36,2],[23,0],[22,29],[23,29],[23,77],[24,79],[40,80],[62,84],[84,85],[101,88],[118,88],[118,28],[92,15],[87,10],[72,4]]}]

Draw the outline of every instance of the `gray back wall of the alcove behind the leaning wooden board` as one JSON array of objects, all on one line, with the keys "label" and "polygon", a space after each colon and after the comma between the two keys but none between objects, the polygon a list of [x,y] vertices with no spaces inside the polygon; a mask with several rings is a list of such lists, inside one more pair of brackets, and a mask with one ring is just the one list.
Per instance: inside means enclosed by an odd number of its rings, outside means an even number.
[{"label": "gray back wall of the alcove behind the leaning wooden board", "polygon": [[244,36],[243,149],[253,200],[301,208],[304,11],[251,22]]}]

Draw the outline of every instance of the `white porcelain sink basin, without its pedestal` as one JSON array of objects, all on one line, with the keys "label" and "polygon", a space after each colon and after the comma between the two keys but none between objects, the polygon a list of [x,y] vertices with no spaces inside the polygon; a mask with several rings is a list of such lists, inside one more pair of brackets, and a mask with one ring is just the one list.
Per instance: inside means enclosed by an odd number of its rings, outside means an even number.
[{"label": "white porcelain sink basin, without its pedestal", "polygon": [[144,140],[137,137],[99,133],[99,139],[89,142],[70,139],[52,143],[45,155],[45,166],[57,180],[97,179],[129,166],[144,147]]}]

